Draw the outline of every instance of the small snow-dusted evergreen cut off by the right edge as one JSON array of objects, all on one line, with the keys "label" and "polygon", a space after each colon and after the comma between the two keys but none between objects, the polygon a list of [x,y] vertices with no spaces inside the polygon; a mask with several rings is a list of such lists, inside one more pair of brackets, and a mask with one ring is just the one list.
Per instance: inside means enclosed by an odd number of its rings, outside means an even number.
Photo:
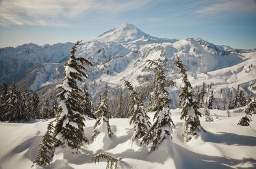
[{"label": "small snow-dusted evergreen cut off by the right edge", "polygon": [[256,97],[246,105],[244,109],[244,116],[240,119],[238,125],[249,126],[250,122],[252,121],[251,116],[252,114],[256,114]]}]

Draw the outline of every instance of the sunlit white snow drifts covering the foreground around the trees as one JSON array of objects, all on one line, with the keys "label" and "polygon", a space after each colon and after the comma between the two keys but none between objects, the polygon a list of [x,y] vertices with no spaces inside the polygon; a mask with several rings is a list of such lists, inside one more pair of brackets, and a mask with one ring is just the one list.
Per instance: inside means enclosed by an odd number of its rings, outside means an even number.
[{"label": "sunlit white snow drifts covering the foreground around the trees", "polygon": [[[176,125],[172,128],[172,140],[166,138],[152,153],[149,153],[150,144],[140,147],[140,142],[134,142],[131,147],[133,127],[129,119],[110,119],[114,135],[108,138],[103,132],[96,140],[90,138],[95,120],[87,120],[85,134],[90,144],[84,144],[77,154],[68,148],[56,149],[51,168],[105,168],[106,162],[94,164],[91,160],[99,153],[122,158],[118,161],[120,168],[256,168],[256,114],[251,126],[239,126],[236,124],[244,115],[242,110],[244,108],[230,110],[229,118],[226,111],[210,110],[211,114],[218,114],[219,119],[213,116],[214,122],[205,122],[202,117],[201,125],[207,132],[192,137],[190,142],[181,136],[181,110],[171,110]],[[153,119],[153,113],[149,116]],[[30,168],[49,121],[1,122],[0,168]]]}]

